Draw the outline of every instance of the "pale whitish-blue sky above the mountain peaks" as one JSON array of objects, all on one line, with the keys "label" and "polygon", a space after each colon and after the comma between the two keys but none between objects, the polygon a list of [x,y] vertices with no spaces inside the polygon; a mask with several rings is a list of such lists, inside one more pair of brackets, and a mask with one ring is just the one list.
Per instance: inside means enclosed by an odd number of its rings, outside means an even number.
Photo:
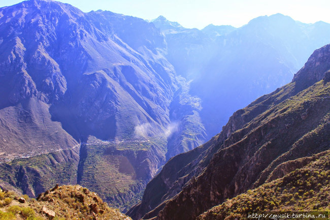
[{"label": "pale whitish-blue sky above the mountain peaks", "polygon": [[[0,7],[22,0],[0,0]],[[84,12],[109,10],[144,19],[163,15],[182,26],[203,28],[230,24],[240,27],[261,16],[282,13],[305,23],[322,20],[330,23],[329,0],[61,0]]]}]

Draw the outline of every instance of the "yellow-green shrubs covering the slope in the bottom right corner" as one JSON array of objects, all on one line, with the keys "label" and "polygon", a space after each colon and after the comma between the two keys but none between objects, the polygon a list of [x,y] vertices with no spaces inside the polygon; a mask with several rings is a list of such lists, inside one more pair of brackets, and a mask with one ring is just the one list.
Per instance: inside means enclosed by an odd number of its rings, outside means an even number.
[{"label": "yellow-green shrubs covering the slope in the bottom right corner", "polygon": [[246,219],[244,212],[329,211],[330,151],[313,156],[301,169],[215,206],[198,220]]}]

